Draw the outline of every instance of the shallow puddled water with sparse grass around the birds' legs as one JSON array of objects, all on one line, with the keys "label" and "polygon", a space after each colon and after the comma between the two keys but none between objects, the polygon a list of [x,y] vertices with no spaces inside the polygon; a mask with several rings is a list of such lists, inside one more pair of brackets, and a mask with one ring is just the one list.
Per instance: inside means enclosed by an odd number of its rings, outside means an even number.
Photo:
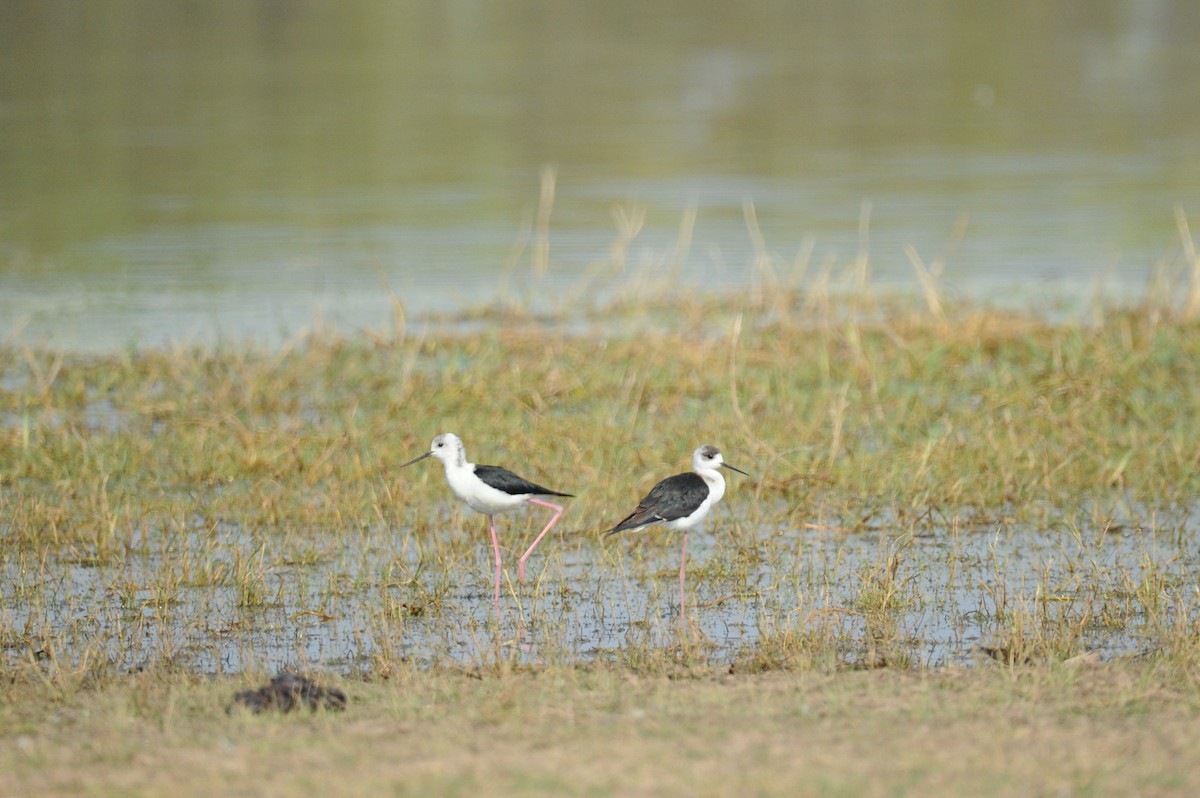
[{"label": "shallow puddled water with sparse grass around the birds' legs", "polygon": [[[1075,629],[1066,640],[1072,650],[1142,653],[1164,631],[1148,625],[1152,617],[1170,625],[1178,612],[1195,612],[1189,586],[1200,578],[1200,552],[1183,534],[1194,521],[1159,514],[1153,528],[1082,533],[1002,522],[929,527],[918,536],[694,533],[689,640],[706,641],[712,664],[769,650],[786,632],[820,632],[842,665],[938,666],[1009,644],[1021,619],[1026,638],[1066,628]],[[197,526],[133,540],[121,562],[85,552],[37,566],[13,559],[2,580],[5,654],[56,644],[58,656],[90,652],[120,668],[170,660],[209,672],[350,672],[396,658],[478,665],[497,652],[530,662],[632,661],[678,643],[678,538],[598,542],[565,532],[544,541],[529,583],[508,586],[497,630],[486,530],[475,517],[462,533],[458,523],[457,514],[448,518],[452,540],[443,545],[382,528],[278,535]],[[250,601],[239,569],[257,575]],[[887,584],[894,594],[877,611],[870,596]]]}]

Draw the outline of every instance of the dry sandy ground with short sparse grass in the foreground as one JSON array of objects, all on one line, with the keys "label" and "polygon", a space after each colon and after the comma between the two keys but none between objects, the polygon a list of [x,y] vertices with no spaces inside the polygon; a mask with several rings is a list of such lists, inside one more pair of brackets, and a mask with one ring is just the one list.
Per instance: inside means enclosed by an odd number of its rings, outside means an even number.
[{"label": "dry sandy ground with short sparse grass in the foreground", "polygon": [[1196,794],[1178,660],[952,671],[402,671],[344,713],[227,715],[250,677],[17,678],[0,794]]}]

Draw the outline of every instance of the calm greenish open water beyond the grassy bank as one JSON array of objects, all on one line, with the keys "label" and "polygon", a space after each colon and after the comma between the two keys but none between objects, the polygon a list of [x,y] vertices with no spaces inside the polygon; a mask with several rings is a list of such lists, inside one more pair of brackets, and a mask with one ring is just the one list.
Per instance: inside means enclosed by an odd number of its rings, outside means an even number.
[{"label": "calm greenish open water beyond the grassy bank", "polygon": [[[0,336],[275,342],[613,264],[790,264],[1140,294],[1200,227],[1200,5],[12,0]],[[534,270],[556,169],[550,277]],[[690,245],[670,253],[680,221]],[[1174,260],[1172,260],[1174,259]],[[668,263],[671,262],[671,263]],[[552,299],[535,299],[553,304]]]}]

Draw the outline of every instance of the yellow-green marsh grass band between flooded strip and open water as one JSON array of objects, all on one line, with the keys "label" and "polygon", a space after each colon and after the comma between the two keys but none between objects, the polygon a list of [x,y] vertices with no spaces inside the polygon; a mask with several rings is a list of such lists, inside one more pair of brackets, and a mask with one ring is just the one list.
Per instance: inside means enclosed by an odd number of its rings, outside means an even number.
[{"label": "yellow-green marsh grass band between flooded strip and open water", "polygon": [[697,440],[755,468],[756,498],[787,515],[876,499],[1037,518],[1080,498],[1180,502],[1200,479],[1190,324],[980,312],[942,330],[898,312],[809,329],[715,301],[677,311],[600,341],[516,326],[283,353],[0,350],[14,542],[102,557],[197,514],[419,524],[398,514],[433,474],[396,467],[443,430],[570,482],[572,515],[598,527],[630,479],[684,466]]}]

